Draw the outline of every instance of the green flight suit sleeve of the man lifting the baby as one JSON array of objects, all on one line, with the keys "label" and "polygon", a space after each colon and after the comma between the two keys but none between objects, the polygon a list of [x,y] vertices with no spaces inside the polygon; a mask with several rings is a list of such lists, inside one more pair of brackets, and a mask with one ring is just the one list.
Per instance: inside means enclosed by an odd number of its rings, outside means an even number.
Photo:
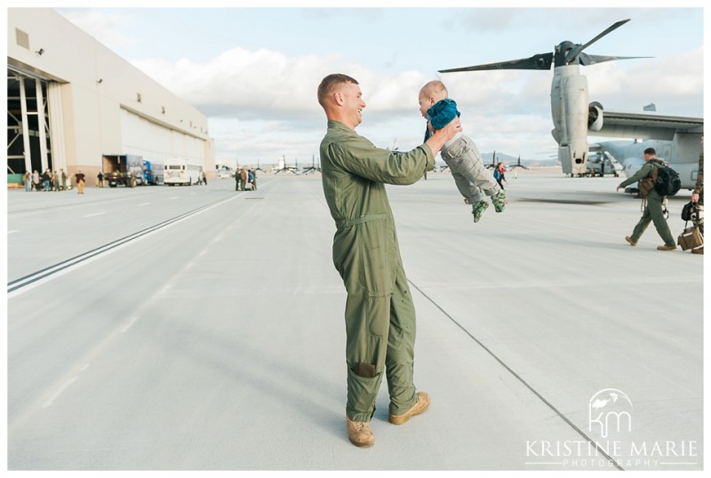
[{"label": "green flight suit sleeve of the man lifting the baby", "polygon": [[432,149],[423,144],[407,153],[373,146],[362,136],[353,135],[328,146],[335,166],[371,181],[408,185],[417,182],[425,171],[435,168]]}]

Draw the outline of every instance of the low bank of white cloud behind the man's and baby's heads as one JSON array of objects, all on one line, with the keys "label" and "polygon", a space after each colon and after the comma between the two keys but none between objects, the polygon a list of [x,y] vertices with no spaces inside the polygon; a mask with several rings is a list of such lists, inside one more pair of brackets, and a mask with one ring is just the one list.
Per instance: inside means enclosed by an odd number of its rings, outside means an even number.
[{"label": "low bank of white cloud behind the man's and baby's heads", "polygon": [[[581,73],[588,78],[590,100],[600,100],[605,108],[641,111],[654,101],[670,115],[700,115],[692,104],[703,91],[703,67],[695,61],[700,55],[691,51],[656,59],[654,68],[651,60],[628,60],[636,63],[627,66],[610,61],[581,68]],[[252,163],[282,155],[310,162],[318,155],[325,120],[316,87],[336,71],[361,84],[367,105],[361,134],[380,147],[394,140],[401,148],[415,147],[424,131],[417,95],[432,79],[419,71],[385,75],[339,55],[288,58],[267,49],[233,48],[202,63],[133,63],[211,118],[219,160],[242,155]],[[550,135],[552,76],[552,71],[503,70],[444,74],[440,79],[483,152],[497,149],[530,157],[531,151],[555,148]],[[664,100],[670,95],[673,104]]]}]

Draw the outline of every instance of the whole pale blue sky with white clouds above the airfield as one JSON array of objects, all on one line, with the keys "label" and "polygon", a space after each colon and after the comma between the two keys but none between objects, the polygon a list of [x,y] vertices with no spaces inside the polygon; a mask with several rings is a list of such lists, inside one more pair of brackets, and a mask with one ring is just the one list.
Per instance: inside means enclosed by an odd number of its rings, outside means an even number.
[{"label": "whole pale blue sky with white clouds above the airfield", "polygon": [[[208,116],[218,163],[268,164],[283,155],[288,163],[317,161],[326,122],[316,86],[334,72],[361,84],[367,107],[358,132],[376,146],[406,150],[421,143],[417,95],[439,78],[483,153],[546,159],[555,152],[552,71],[437,70],[527,58],[564,40],[584,44],[623,19],[631,21],[586,52],[653,58],[582,68],[590,100],[611,110],[642,112],[654,103],[659,114],[703,116],[699,2],[677,3],[684,8],[122,4],[128,7],[54,8]],[[359,5],[372,4],[392,3]]]}]

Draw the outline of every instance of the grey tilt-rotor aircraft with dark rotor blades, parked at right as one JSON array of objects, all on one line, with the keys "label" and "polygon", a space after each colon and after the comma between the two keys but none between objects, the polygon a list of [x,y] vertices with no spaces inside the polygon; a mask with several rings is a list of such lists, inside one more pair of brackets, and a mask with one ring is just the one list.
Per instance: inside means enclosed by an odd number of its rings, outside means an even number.
[{"label": "grey tilt-rotor aircraft with dark rotor blades, parked at right", "polygon": [[[642,167],[642,152],[654,147],[657,155],[670,164],[682,179],[682,187],[695,186],[701,154],[700,137],[703,134],[703,118],[683,116],[659,116],[603,110],[599,102],[589,102],[587,77],[580,74],[580,67],[603,61],[628,60],[648,57],[620,57],[589,55],[585,50],[612,30],[621,27],[627,20],[620,20],[595,36],[587,44],[564,41],[555,46],[554,52],[540,53],[520,60],[487,63],[474,67],[450,68],[440,73],[481,71],[491,69],[539,69],[553,66],[553,83],[550,90],[551,115],[554,129],[551,131],[558,143],[558,161],[563,172],[570,176],[582,176],[587,172],[587,135],[635,138],[635,141],[611,141],[596,143],[595,147],[609,150],[625,168],[627,176]],[[642,139],[638,141],[636,139]]]}]

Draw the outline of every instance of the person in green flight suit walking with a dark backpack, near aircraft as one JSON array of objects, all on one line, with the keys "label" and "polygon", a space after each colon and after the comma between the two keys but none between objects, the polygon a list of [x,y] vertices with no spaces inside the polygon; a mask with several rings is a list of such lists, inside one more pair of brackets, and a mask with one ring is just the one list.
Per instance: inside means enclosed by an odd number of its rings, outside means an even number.
[{"label": "person in green flight suit walking with a dark backpack, near aircraft", "polygon": [[669,225],[667,224],[667,219],[664,217],[664,203],[667,201],[667,196],[659,194],[653,186],[659,174],[659,165],[664,166],[664,161],[657,157],[657,151],[653,147],[645,149],[643,157],[645,163],[642,168],[631,178],[627,178],[619,183],[617,187],[619,191],[621,187],[627,187],[635,183],[635,181],[639,181],[639,191],[643,197],[642,218],[637,222],[635,230],[632,231],[632,235],[625,236],[625,241],[627,241],[629,245],[637,245],[637,241],[642,237],[644,231],[650,225],[650,222],[653,222],[654,227],[657,229],[657,234],[659,234],[664,241],[664,245],[657,246],[657,250],[674,251],[676,249],[674,236],[672,236]]}]

